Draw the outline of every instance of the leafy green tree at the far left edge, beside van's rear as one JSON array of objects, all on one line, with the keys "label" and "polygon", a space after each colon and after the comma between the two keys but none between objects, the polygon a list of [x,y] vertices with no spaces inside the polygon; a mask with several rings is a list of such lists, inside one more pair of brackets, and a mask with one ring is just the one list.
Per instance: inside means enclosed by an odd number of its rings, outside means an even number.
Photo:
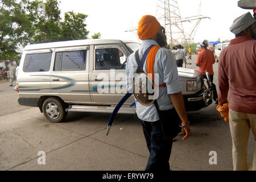
[{"label": "leafy green tree at the far left edge, beside van's rear", "polygon": [[[26,31],[31,23],[21,5],[15,0],[0,0],[0,58],[14,59],[18,46],[26,43]],[[16,57],[16,58],[15,58]]]}]

